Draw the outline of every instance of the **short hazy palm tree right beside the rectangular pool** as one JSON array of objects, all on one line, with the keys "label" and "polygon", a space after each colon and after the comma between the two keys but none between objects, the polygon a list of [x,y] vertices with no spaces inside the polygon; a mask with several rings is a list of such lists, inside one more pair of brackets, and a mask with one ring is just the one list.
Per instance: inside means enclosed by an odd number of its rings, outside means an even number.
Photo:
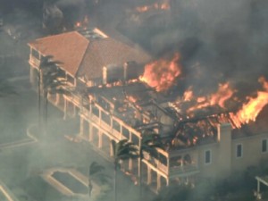
[{"label": "short hazy palm tree right beside the rectangular pool", "polygon": [[93,189],[92,181],[99,180],[102,184],[110,184],[110,177],[105,174],[105,167],[99,163],[93,162],[88,170],[88,196],[91,197]]}]

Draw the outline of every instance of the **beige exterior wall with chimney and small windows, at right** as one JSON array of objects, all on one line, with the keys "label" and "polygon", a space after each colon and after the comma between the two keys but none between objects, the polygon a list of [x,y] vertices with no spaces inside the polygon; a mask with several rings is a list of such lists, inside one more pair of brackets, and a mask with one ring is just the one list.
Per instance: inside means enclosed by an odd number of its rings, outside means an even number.
[{"label": "beige exterior wall with chimney and small windows, at right", "polygon": [[[219,131],[218,142],[204,146],[180,150],[175,155],[197,155],[193,157],[198,164],[199,176],[224,178],[231,172],[242,172],[248,166],[259,165],[268,160],[267,151],[262,152],[262,140],[267,139],[268,132],[245,138],[231,139],[230,127],[222,125]],[[242,145],[242,156],[237,157],[237,145]],[[205,151],[211,153],[211,163],[205,163]]]}]

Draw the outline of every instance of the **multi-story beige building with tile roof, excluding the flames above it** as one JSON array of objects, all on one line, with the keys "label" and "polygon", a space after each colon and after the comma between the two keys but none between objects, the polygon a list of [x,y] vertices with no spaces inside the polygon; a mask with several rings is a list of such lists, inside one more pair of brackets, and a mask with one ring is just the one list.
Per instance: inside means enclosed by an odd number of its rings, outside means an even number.
[{"label": "multi-story beige building with tile roof, excluding the flames above it", "polygon": [[121,165],[124,171],[142,173],[155,189],[200,175],[223,177],[268,159],[268,130],[232,130],[221,115],[178,121],[169,98],[137,80],[150,57],[136,46],[93,29],[39,38],[29,47],[33,85],[42,56],[53,55],[71,86],[88,88],[87,100],[80,93],[52,98],[64,113],[79,115],[80,138],[112,156],[111,140],[127,138],[140,147],[144,130],[161,136],[165,149],[158,149],[157,158],[145,153],[142,164],[130,159]]}]

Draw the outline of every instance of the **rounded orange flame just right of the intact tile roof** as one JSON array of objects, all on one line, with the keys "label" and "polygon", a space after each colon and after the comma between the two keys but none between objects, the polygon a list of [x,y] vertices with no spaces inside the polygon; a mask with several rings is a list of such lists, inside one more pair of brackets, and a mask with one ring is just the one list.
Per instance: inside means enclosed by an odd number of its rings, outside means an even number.
[{"label": "rounded orange flame just right of the intact tile roof", "polygon": [[164,59],[148,63],[144,74],[139,80],[146,82],[156,91],[164,91],[172,87],[176,78],[180,75],[180,54],[175,54],[172,61]]}]

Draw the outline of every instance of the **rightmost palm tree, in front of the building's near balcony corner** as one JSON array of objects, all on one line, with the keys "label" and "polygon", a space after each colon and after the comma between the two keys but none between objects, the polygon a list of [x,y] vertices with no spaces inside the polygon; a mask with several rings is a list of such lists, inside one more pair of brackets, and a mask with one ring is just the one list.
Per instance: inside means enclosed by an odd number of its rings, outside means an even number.
[{"label": "rightmost palm tree, in front of the building's near balcony corner", "polygon": [[139,172],[139,197],[141,200],[142,196],[142,160],[144,159],[144,151],[147,152],[149,155],[156,157],[158,156],[157,148],[163,149],[163,143],[161,138],[158,134],[156,134],[153,130],[145,130],[141,133],[141,145],[138,150],[138,172]]}]

